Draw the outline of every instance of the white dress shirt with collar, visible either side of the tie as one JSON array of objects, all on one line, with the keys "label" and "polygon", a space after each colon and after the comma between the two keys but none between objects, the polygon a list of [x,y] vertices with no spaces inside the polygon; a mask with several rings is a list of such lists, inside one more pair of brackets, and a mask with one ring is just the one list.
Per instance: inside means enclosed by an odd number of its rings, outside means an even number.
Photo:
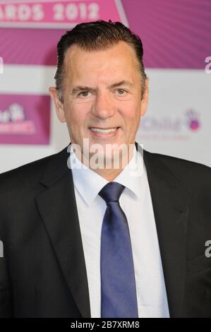
[{"label": "white dress shirt with collar, visible either side of the tie", "polygon": [[[72,148],[70,162],[88,275],[91,317],[100,317],[100,238],[107,205],[98,193],[108,181],[81,163]],[[126,214],[131,236],[138,317],[169,317],[147,172],[135,145],[133,157],[114,181],[125,186],[119,204]]]}]

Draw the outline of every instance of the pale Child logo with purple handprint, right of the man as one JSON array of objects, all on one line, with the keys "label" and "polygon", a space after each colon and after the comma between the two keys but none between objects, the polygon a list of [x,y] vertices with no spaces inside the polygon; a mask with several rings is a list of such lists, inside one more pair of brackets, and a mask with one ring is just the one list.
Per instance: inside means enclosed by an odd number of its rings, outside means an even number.
[{"label": "pale Child logo with purple handprint, right of the man", "polygon": [[191,138],[202,127],[200,112],[193,108],[186,109],[181,116],[143,117],[140,121],[140,137],[175,140]]}]

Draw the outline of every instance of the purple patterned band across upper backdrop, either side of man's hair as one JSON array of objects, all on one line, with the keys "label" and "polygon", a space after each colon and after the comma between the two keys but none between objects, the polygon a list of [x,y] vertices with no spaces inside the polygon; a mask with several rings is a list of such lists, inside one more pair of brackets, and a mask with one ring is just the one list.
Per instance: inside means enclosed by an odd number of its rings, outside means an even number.
[{"label": "purple patterned band across upper backdrop, either side of man's hair", "polygon": [[[143,40],[146,67],[205,68],[211,56],[210,0],[121,2],[129,27]],[[114,11],[104,16],[113,17]],[[6,64],[56,65],[56,45],[66,30],[1,28],[0,57]]]}]

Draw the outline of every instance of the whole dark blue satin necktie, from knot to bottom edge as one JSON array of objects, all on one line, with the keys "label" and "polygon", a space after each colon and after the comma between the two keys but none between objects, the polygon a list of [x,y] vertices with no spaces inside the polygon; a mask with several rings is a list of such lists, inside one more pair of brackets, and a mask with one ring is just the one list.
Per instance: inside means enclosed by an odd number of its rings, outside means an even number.
[{"label": "whole dark blue satin necktie, from knot to bottom edge", "polygon": [[101,234],[101,317],[138,317],[131,238],[119,205],[124,188],[109,182],[99,192],[107,203]]}]

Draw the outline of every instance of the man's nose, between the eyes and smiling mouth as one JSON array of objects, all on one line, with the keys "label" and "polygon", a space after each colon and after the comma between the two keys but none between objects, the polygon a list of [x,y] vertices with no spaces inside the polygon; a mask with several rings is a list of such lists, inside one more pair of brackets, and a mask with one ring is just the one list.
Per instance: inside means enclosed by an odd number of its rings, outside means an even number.
[{"label": "man's nose, between the eyes and smiling mouth", "polygon": [[95,102],[92,105],[92,114],[100,119],[112,117],[115,112],[114,102],[106,93],[97,93]]}]

